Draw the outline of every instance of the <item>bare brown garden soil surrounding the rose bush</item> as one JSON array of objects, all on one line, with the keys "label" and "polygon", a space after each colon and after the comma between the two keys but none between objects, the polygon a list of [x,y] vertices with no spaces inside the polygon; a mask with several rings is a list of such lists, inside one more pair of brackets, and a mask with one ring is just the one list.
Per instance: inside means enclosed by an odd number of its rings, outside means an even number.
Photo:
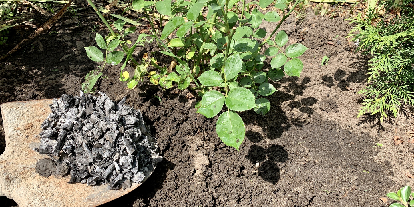
[{"label": "bare brown garden soil surrounding the rose bush", "polygon": [[[91,30],[100,23],[95,16],[65,15],[52,28],[55,32],[1,63],[1,103],[79,94],[84,76],[97,68],[83,47],[95,44]],[[77,24],[65,25],[65,21],[79,19],[79,27],[65,29]],[[275,26],[261,25],[268,32]],[[414,172],[413,147],[404,137],[412,130],[411,112],[392,124],[356,118],[361,99],[356,92],[366,84],[367,71],[366,59],[346,39],[351,25],[309,12],[296,22],[289,18],[281,29],[291,43],[298,41],[309,48],[301,57],[304,70],[300,78],[272,82],[278,91],[269,96],[272,108],[266,116],[253,110],[241,113],[246,138],[240,151],[217,137],[217,118],[195,113],[199,98],[188,99],[191,91],[163,91],[151,84],[126,89],[118,80],[120,65],[106,69],[103,73],[108,78],[98,81],[97,91],[113,100],[126,96],[127,104],[142,110],[164,160],[143,185],[103,206],[386,207],[391,201],[385,204],[378,198],[414,184],[403,174]],[[108,33],[103,26],[96,30]],[[18,41],[11,41],[10,48]],[[134,55],[140,59],[152,51],[156,48],[148,45]],[[159,62],[171,62],[157,55]],[[321,66],[324,55],[330,60]],[[406,142],[395,146],[395,133]],[[376,143],[383,147],[373,147]],[[0,127],[0,153],[4,149]],[[16,205],[5,197],[0,202],[6,207]]]}]

